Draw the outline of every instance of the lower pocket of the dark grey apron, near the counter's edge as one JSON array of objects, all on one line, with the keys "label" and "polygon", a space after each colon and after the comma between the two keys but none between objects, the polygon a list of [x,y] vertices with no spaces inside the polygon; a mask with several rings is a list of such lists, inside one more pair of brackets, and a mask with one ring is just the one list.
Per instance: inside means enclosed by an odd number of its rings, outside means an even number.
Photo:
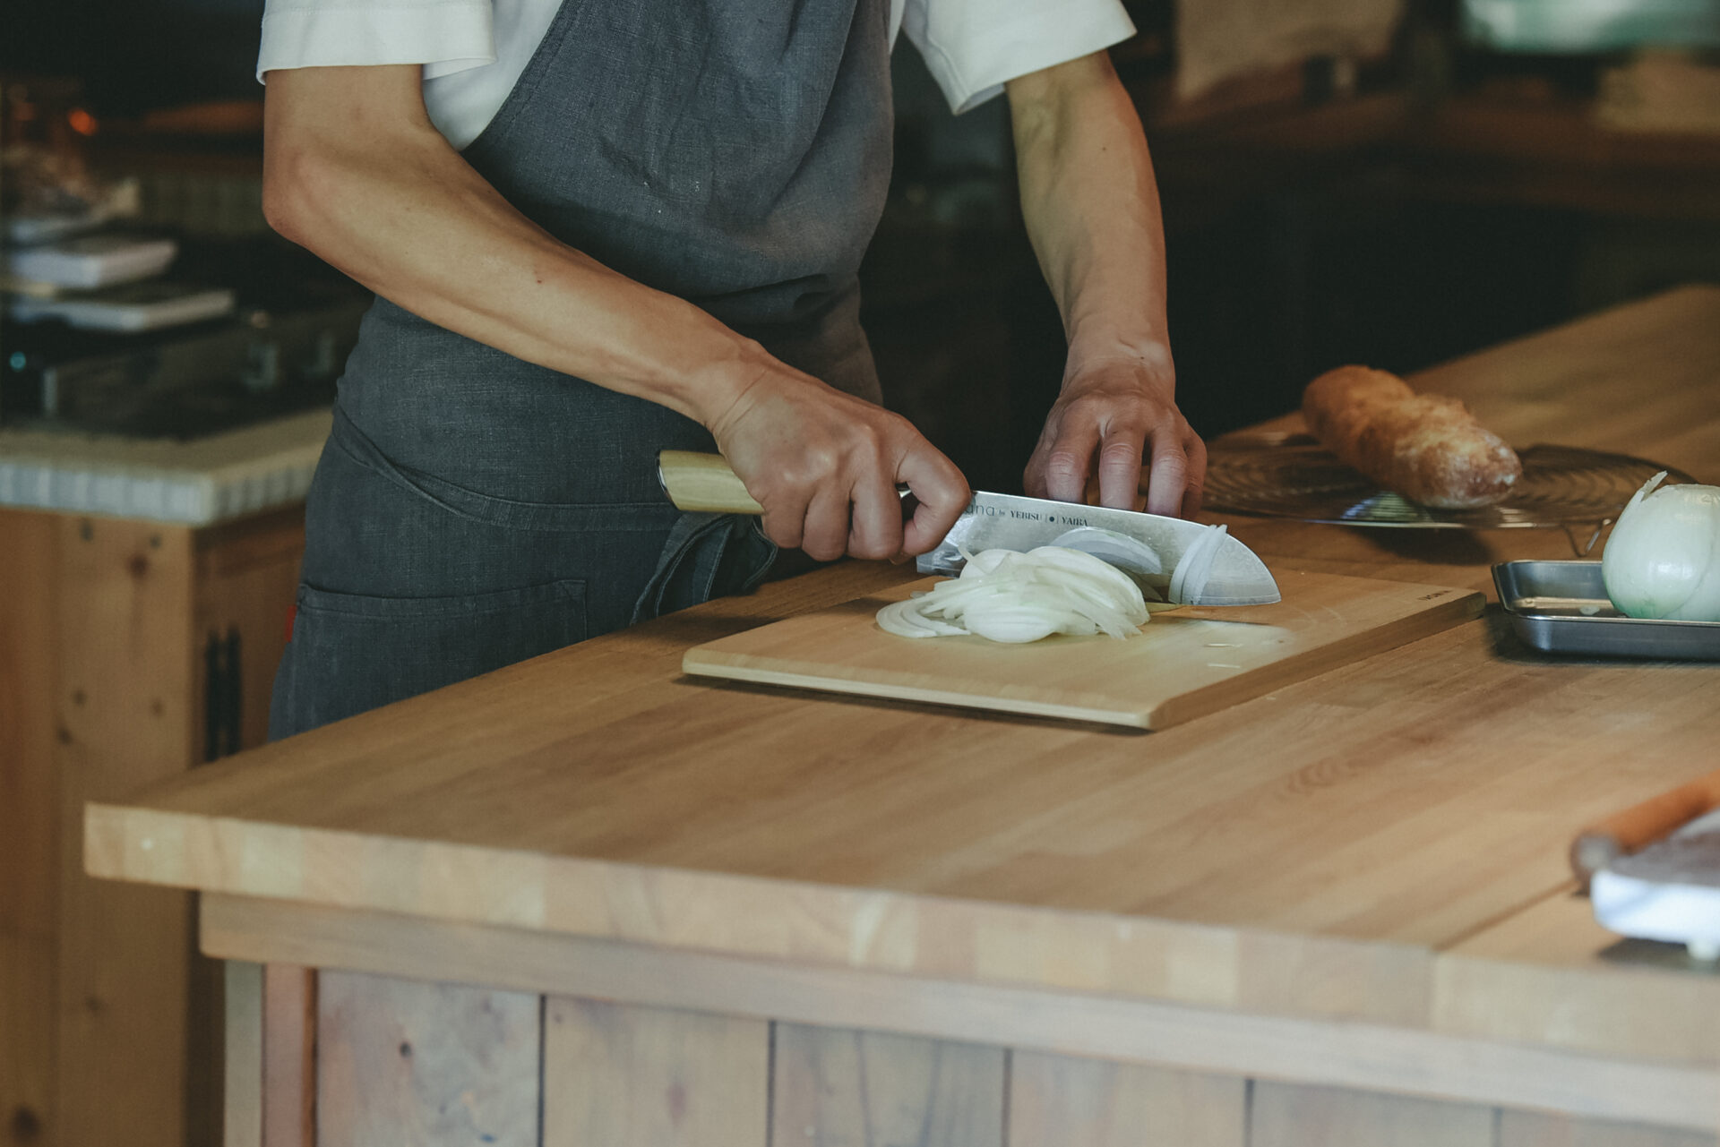
[{"label": "lower pocket of the dark grey apron, near the counter's edge", "polygon": [[370,597],[301,585],[275,678],[270,738],[583,641],[585,631],[583,580],[458,597]]}]

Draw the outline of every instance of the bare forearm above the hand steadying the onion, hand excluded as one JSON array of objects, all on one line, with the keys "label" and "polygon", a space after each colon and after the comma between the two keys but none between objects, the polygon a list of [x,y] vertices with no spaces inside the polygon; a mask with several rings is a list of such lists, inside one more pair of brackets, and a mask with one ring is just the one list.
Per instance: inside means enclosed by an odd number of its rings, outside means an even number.
[{"label": "bare forearm above the hand steadying the onion, hand excluded", "polygon": [[1164,227],[1152,160],[1104,53],[1011,81],[1022,215],[1063,315],[1070,368],[1170,370]]}]

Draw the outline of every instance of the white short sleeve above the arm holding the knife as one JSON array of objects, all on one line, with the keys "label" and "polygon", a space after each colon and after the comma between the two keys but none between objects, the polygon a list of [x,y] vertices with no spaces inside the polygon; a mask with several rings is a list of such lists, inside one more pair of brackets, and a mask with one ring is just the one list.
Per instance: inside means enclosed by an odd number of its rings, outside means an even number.
[{"label": "white short sleeve above the arm holding the knife", "polygon": [[256,77],[277,67],[423,64],[435,79],[494,62],[492,0],[267,0]]}]

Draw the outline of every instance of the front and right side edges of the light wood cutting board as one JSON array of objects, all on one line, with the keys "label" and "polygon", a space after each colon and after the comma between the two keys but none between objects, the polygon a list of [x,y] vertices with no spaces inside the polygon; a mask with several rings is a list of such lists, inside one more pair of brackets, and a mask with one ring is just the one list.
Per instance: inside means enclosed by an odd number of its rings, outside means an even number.
[{"label": "front and right side edges of the light wood cutting board", "polygon": [[[1287,571],[1297,573],[1297,571]],[[1216,681],[1204,688],[1166,698],[1151,708],[1123,712],[1116,705],[1092,707],[1078,700],[1035,700],[1020,695],[987,696],[982,693],[963,693],[956,690],[939,690],[931,686],[903,686],[900,681],[869,681],[855,671],[853,676],[836,666],[807,666],[803,662],[784,664],[777,657],[757,657],[734,652],[712,652],[707,643],[698,645],[681,657],[681,671],[695,678],[716,678],[722,681],[741,681],[746,684],[765,684],[791,688],[800,691],[822,693],[826,696],[867,696],[893,702],[939,705],[967,710],[1003,712],[1010,715],[1058,717],[1065,721],[1082,721],[1113,727],[1130,729],[1168,729],[1195,717],[1219,712],[1232,705],[1254,700],[1276,688],[1305,681],[1328,669],[1336,669],[1374,653],[1409,645],[1424,636],[1443,633],[1453,626],[1479,617],[1486,609],[1486,595],[1459,586],[1426,585],[1421,588],[1443,590],[1450,593],[1447,600],[1426,610],[1385,623],[1374,629],[1355,633],[1338,641],[1287,657],[1271,666],[1250,671],[1242,679]],[[865,595],[857,600],[888,600],[906,595],[901,593]],[[850,602],[851,605],[853,602]],[[1206,614],[1207,610],[1201,610]]]}]

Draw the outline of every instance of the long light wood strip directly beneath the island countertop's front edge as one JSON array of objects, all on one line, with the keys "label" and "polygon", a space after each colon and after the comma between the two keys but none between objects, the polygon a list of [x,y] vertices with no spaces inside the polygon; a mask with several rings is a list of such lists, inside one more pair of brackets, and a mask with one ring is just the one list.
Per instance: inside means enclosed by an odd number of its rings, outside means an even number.
[{"label": "long light wood strip directly beneath the island countertop's front edge", "polygon": [[[1720,1068],[1498,1042],[1421,1021],[1292,1018],[808,960],[738,958],[530,929],[206,898],[203,946],[418,980],[488,984],[729,1018],[869,1028],[1195,1073],[1711,1128]],[[1582,999],[1565,1001],[1581,1011]],[[1550,1046],[1551,1044],[1551,1046]],[[643,1109],[642,1109],[643,1111]]]}]

